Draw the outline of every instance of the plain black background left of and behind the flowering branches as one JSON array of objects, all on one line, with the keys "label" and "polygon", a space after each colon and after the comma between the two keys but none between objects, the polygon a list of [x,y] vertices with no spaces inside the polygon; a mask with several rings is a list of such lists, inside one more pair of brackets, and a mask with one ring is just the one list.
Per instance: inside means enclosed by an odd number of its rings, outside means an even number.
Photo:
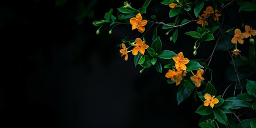
[{"label": "plain black background left of and behind the flowering branches", "polygon": [[[123,2],[1,2],[0,127],[198,127],[201,116],[195,111],[203,102],[190,97],[178,106],[178,86],[166,83],[167,69],[159,74],[149,68],[140,74],[132,54],[128,61],[121,58],[120,39],[141,36],[137,30],[117,26],[109,35],[105,26],[95,34],[98,27],[92,22],[111,8],[116,14]],[[159,19],[169,14],[168,6],[152,2],[157,4],[149,5],[149,14]],[[143,1],[129,3],[138,9]],[[165,33],[159,31],[164,49],[195,58],[191,38],[178,39],[186,45],[174,44]],[[150,42],[150,34],[146,37]],[[209,57],[211,46],[205,45],[209,48],[197,57]],[[215,78],[218,83],[220,77]]]}]

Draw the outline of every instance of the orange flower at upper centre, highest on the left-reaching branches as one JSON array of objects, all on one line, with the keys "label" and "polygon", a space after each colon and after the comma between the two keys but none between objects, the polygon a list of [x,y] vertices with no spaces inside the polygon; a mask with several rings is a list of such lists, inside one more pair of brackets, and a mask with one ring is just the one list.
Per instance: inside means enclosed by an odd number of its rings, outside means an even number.
[{"label": "orange flower at upper centre, highest on the left-reaching branches", "polygon": [[138,29],[140,33],[145,31],[145,25],[147,24],[147,20],[142,20],[141,14],[137,14],[136,17],[130,19],[130,23],[132,25],[132,30]]}]

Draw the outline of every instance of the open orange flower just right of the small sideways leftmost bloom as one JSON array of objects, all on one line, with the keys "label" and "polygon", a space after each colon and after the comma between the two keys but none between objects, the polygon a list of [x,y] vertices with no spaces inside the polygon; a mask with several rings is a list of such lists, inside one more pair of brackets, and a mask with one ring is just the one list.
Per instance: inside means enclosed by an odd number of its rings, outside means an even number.
[{"label": "open orange flower just right of the small sideways leftmost bloom", "polygon": [[140,38],[135,39],[135,44],[133,44],[133,46],[134,46],[132,50],[133,55],[137,55],[138,52],[140,52],[141,54],[144,54],[145,49],[148,49],[149,47],[147,44],[145,44],[145,41],[142,42]]}]

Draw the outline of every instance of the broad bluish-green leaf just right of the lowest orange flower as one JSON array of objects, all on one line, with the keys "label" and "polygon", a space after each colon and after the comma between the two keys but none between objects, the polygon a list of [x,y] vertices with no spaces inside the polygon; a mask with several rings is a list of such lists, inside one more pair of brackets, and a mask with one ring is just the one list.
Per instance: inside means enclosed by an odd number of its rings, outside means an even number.
[{"label": "broad bluish-green leaf just right of the lowest orange flower", "polygon": [[241,100],[238,97],[227,98],[222,106],[225,106],[228,109],[239,109],[241,107],[252,108],[251,103]]}]

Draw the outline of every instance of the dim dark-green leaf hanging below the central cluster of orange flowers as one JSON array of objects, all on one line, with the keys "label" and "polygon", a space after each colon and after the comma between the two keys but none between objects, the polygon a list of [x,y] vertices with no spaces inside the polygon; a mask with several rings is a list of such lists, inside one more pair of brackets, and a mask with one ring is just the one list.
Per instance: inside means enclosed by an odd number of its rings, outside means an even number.
[{"label": "dim dark-green leaf hanging below the central cluster of orange flowers", "polygon": [[180,105],[183,100],[187,99],[191,93],[193,93],[193,89],[187,89],[184,86],[180,85],[177,91],[178,105]]}]

